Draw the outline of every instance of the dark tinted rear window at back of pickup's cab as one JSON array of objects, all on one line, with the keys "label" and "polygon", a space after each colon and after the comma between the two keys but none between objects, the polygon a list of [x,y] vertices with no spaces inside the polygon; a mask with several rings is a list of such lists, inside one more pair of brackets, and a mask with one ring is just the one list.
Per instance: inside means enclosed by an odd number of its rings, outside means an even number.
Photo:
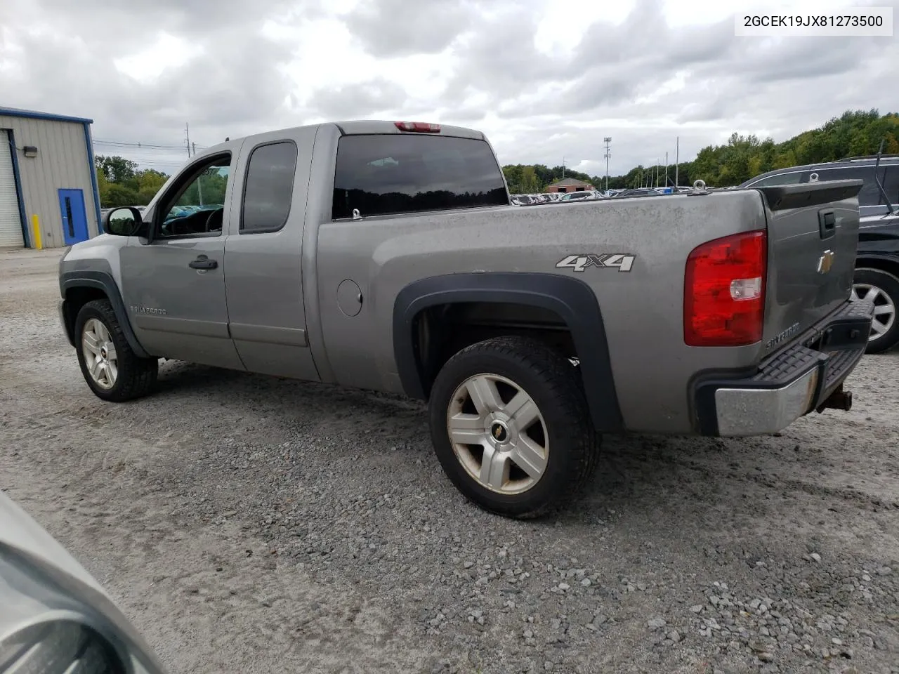
[{"label": "dark tinted rear window at back of pickup's cab", "polygon": [[508,205],[503,173],[483,140],[344,136],[337,146],[333,217]]}]

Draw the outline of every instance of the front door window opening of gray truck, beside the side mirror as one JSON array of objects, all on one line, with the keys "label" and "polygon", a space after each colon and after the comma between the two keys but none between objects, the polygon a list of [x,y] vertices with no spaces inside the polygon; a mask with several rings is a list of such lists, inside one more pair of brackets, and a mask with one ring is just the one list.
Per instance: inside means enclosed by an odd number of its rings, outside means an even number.
[{"label": "front door window opening of gray truck, beside the side mirror", "polygon": [[159,238],[218,236],[222,232],[225,191],[231,172],[231,155],[218,155],[198,164],[174,186],[159,208]]}]

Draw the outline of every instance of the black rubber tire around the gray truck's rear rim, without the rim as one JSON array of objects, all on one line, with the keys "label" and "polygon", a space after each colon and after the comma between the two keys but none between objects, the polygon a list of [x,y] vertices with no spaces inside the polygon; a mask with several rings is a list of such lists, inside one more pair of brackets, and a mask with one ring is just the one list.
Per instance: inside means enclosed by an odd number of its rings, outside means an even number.
[{"label": "black rubber tire around the gray truck's rear rim, without the rim", "polygon": [[[449,439],[453,395],[479,374],[512,381],[539,408],[540,428],[545,427],[548,439],[546,466],[527,491],[509,494],[485,487],[468,473]],[[498,337],[460,350],[434,381],[429,421],[434,450],[449,480],[468,500],[505,517],[535,518],[556,510],[580,491],[596,467],[600,438],[593,430],[580,373],[562,354],[537,340]]]}]

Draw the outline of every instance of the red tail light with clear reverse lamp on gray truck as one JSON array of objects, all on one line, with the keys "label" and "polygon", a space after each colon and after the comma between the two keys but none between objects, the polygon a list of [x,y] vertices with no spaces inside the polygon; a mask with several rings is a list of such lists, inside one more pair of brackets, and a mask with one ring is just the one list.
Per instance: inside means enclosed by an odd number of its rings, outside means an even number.
[{"label": "red tail light with clear reverse lamp on gray truck", "polygon": [[744,346],[761,340],[767,251],[763,230],[693,249],[683,288],[683,341],[688,346]]}]

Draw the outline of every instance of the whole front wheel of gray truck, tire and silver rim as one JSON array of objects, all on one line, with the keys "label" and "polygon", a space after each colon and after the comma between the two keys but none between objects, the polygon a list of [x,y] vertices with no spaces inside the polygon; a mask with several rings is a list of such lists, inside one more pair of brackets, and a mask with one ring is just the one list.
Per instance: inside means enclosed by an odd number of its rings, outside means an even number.
[{"label": "whole front wheel of gray truck, tire and silver rim", "polygon": [[82,306],[75,334],[78,365],[98,398],[122,403],[153,389],[159,360],[140,358],[131,350],[109,300],[95,299]]}]

